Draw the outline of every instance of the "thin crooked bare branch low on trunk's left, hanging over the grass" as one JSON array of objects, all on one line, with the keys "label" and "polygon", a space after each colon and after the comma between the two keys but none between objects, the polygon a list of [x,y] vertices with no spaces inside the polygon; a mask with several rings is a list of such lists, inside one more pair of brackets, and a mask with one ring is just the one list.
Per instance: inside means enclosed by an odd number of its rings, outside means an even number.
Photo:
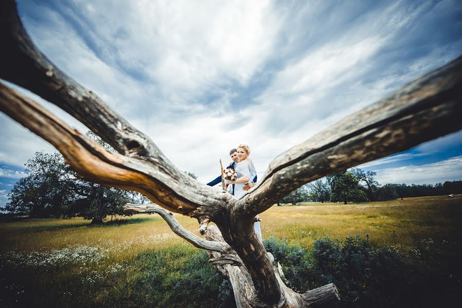
[{"label": "thin crooked bare branch low on trunk's left, hanging over the grass", "polygon": [[136,213],[157,213],[165,222],[170,226],[172,231],[179,237],[187,240],[197,248],[206,249],[221,254],[226,254],[230,251],[231,247],[225,242],[208,241],[195,236],[187,229],[183,228],[180,223],[173,217],[173,214],[167,209],[162,208],[157,204],[133,204],[127,203],[123,207],[124,210],[134,211]]}]

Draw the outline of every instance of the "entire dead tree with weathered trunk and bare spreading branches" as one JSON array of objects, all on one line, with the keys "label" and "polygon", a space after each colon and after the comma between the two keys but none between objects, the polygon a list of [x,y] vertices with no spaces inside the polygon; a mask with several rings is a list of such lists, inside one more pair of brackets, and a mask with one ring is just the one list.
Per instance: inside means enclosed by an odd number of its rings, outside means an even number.
[{"label": "entire dead tree with weathered trunk and bare spreading branches", "polygon": [[[237,200],[178,170],[149,137],[46,59],[24,30],[13,0],[3,0],[0,8],[0,78],[65,110],[119,153],[4,83],[1,111],[56,147],[85,180],[139,191],[158,204],[130,207],[159,213],[176,234],[207,249],[211,262],[230,278],[238,307],[320,306],[339,298],[333,284],[304,294],[284,284],[253,232],[257,214],[305,183],[462,128],[459,57],[282,153],[253,191]],[[209,222],[216,227],[202,239],[179,226],[169,211],[196,218],[201,231]]]}]

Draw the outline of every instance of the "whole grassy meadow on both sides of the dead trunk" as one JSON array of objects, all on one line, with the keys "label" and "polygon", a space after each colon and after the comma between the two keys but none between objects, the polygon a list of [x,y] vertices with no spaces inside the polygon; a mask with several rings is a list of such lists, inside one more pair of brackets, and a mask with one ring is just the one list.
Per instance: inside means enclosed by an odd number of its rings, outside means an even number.
[{"label": "whole grassy meadow on both sides of the dead trunk", "polygon": [[[197,220],[175,217],[198,235]],[[263,237],[273,243],[284,239],[309,252],[319,239],[358,235],[437,267],[460,286],[462,195],[274,205],[261,217]],[[81,218],[2,219],[0,232],[0,306],[232,306],[229,282],[207,254],[174,235],[158,215],[101,226]]]}]

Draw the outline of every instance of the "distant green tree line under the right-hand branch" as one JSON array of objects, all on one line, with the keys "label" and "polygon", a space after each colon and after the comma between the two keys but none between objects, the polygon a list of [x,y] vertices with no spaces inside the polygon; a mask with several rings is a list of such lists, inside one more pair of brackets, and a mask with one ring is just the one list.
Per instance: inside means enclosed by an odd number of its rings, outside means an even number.
[{"label": "distant green tree line under the right-hand branch", "polygon": [[385,184],[376,179],[377,172],[351,168],[308,183],[280,200],[293,205],[300,202],[370,202],[397,198],[462,194],[462,181],[432,184]]}]

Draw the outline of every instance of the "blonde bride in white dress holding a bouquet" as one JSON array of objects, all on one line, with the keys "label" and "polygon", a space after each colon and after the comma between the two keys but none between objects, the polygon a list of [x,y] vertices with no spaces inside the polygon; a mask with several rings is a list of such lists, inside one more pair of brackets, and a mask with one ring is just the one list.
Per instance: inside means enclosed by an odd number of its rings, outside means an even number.
[{"label": "blonde bride in white dress holding a bouquet", "polygon": [[[246,144],[241,144],[237,147],[237,158],[239,159],[236,172],[237,179],[229,182],[229,184],[234,184],[234,197],[237,199],[241,198],[246,194],[244,186],[251,182],[256,176],[255,166],[253,165],[252,160],[249,158],[250,148]],[[262,229],[260,227],[260,221],[257,221],[253,224],[253,229],[255,233],[262,238]]]}]

